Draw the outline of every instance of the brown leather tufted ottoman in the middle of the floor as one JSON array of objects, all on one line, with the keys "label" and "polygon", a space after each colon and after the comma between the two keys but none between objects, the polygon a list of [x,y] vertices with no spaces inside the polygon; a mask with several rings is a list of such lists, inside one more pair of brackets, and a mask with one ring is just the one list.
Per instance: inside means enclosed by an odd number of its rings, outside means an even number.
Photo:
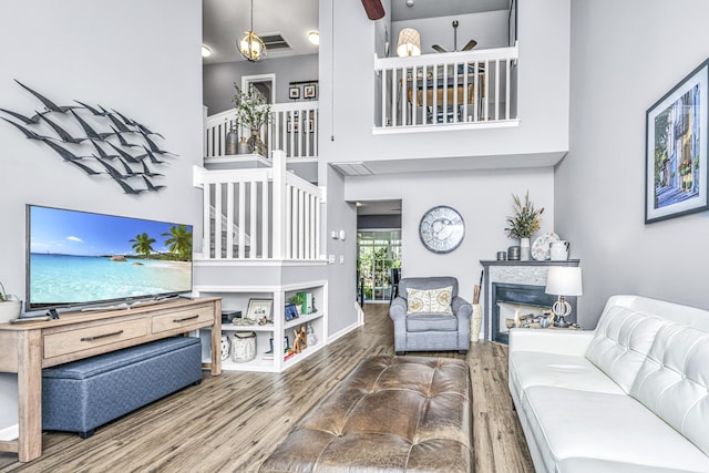
[{"label": "brown leather tufted ottoman in the middle of the floor", "polygon": [[296,425],[260,472],[470,472],[467,364],[368,358]]}]

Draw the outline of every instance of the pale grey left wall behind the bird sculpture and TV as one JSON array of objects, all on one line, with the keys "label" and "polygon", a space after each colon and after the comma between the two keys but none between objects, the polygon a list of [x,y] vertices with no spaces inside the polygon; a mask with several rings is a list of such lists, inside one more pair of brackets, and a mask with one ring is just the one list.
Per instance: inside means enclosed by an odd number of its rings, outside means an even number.
[{"label": "pale grey left wall behind the bird sculpture and TV", "polygon": [[[41,110],[17,79],[60,105],[80,100],[117,109],[162,133],[164,148],[178,155],[161,171],[166,188],[129,196],[0,121],[0,280],[8,291],[24,295],[29,203],[193,224],[199,241],[192,166],[202,163],[201,17],[199,0],[2,2],[0,107]],[[3,403],[0,428],[14,414]]]}]

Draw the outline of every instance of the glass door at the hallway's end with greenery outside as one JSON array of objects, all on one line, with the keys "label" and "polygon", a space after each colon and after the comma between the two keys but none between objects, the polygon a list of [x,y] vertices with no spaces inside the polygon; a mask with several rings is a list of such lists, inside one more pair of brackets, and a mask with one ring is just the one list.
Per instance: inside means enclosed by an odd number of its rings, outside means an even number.
[{"label": "glass door at the hallway's end with greenery outside", "polygon": [[364,302],[389,302],[391,269],[401,267],[401,230],[379,229],[357,233],[360,291]]}]

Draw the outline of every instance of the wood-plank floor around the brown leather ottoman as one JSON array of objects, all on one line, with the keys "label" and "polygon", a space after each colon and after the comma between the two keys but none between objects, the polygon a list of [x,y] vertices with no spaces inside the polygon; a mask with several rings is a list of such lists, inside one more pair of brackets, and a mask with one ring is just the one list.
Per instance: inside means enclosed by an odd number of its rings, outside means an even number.
[{"label": "wood-plank floor around the brown leather ottoman", "polygon": [[[290,428],[366,357],[393,354],[388,305],[368,305],[364,326],[285,373],[212,377],[96,429],[48,432],[43,454],[19,463],[0,453],[0,472],[250,472]],[[507,390],[505,346],[471,343],[458,352],[412,353],[466,359],[473,382],[475,471],[533,472]]]}]

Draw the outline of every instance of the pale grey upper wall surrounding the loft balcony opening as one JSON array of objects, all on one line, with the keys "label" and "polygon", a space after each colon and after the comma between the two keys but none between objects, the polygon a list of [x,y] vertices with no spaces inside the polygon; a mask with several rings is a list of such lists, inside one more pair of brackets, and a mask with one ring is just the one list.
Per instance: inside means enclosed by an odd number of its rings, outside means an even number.
[{"label": "pale grey upper wall surrounding the loft balcony opening", "polygon": [[[335,2],[333,16],[330,3],[320,0],[320,113],[321,136],[326,138],[320,153],[328,162],[487,157],[568,150],[569,0],[526,0],[520,4],[518,127],[405,135],[371,132],[376,82],[372,51],[381,49],[376,22],[367,19],[361,2]],[[501,28],[506,34],[506,24]],[[330,41],[335,54],[327,44]],[[392,45],[397,41],[393,34],[391,41]],[[326,85],[330,78],[332,90]],[[336,110],[333,117],[329,107]],[[332,143],[327,141],[330,136]]]}]

